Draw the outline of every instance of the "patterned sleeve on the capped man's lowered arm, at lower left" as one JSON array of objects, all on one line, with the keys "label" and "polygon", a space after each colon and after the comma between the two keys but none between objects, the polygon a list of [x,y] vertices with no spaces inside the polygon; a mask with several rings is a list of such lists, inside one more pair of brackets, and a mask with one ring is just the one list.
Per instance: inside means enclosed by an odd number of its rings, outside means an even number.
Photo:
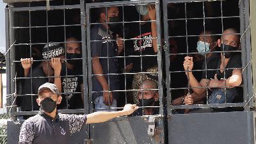
[{"label": "patterned sleeve on the capped man's lowered arm, at lower left", "polygon": [[26,120],[20,128],[19,144],[32,144],[34,136],[35,125]]}]

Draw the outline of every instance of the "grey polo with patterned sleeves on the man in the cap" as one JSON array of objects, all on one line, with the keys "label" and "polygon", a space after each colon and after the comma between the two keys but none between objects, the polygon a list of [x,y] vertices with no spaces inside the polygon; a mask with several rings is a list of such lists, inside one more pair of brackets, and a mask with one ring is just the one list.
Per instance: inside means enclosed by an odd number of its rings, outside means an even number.
[{"label": "grey polo with patterned sleeves on the man in the cap", "polygon": [[20,128],[19,144],[68,144],[70,136],[86,124],[86,115],[58,114],[54,119],[40,112],[25,120]]}]

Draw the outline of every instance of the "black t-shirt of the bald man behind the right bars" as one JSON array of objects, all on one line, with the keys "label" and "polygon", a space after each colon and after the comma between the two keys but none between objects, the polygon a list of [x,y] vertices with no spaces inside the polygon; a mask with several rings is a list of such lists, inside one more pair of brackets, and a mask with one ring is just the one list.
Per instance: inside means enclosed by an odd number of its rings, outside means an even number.
[{"label": "black t-shirt of the bald man behind the right bars", "polygon": [[[220,68],[221,64],[221,56],[220,54],[218,56],[212,56],[207,61],[207,69],[202,74],[202,79],[214,79],[215,74],[217,74],[218,79],[224,79],[224,72],[220,72],[220,70],[216,70],[217,68]],[[228,77],[232,76],[232,72],[234,68],[241,68],[241,53],[234,54],[230,60],[228,61],[225,68],[231,68],[231,69],[225,69],[225,79],[228,79]],[[203,68],[205,69],[205,64],[203,64]],[[215,70],[214,70],[215,69]],[[206,74],[207,73],[207,74]],[[207,76],[207,77],[206,77]]]}]

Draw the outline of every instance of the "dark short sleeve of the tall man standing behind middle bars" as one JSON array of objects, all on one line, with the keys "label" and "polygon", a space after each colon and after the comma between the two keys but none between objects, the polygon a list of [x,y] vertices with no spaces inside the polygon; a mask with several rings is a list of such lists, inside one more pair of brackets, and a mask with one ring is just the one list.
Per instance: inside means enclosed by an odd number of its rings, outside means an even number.
[{"label": "dark short sleeve of the tall man standing behind middle bars", "polygon": [[[92,57],[101,56],[102,51],[102,37],[98,35],[98,29],[93,28],[92,29],[92,36],[91,36],[91,50],[92,50]],[[93,40],[97,40],[96,42],[93,42]]]}]

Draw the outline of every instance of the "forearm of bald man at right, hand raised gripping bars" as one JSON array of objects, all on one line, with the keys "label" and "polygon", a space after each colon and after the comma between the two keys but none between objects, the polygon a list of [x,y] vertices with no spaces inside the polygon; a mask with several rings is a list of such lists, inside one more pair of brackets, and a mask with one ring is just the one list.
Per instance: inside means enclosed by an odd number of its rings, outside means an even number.
[{"label": "forearm of bald man at right, hand raised gripping bars", "polygon": [[196,80],[195,76],[193,75],[192,72],[188,72],[189,76],[189,85],[192,88],[193,92],[196,95],[202,95],[205,92],[205,88],[198,88],[198,87],[202,87],[202,85]]}]

